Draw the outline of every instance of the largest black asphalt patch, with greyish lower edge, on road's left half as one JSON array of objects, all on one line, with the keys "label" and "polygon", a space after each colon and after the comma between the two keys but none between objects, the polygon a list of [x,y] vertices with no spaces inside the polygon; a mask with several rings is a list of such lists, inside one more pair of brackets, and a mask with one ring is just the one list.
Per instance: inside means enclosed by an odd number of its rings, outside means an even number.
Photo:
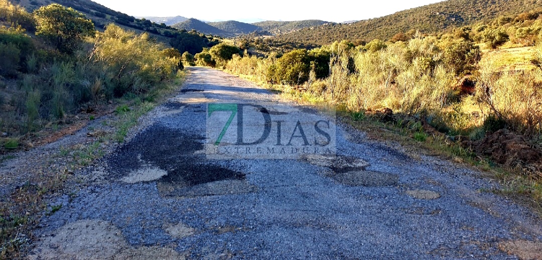
[{"label": "largest black asphalt patch, with greyish lower edge, on road's left half", "polygon": [[[251,191],[244,181],[245,175],[230,170],[213,161],[207,161],[203,150],[204,138],[198,134],[186,134],[177,129],[154,125],[136,135],[128,144],[107,158],[114,178],[124,180],[130,174],[149,167],[167,171],[158,179],[163,194],[169,196],[205,196]],[[224,182],[234,181],[228,186]],[[238,181],[242,180],[242,184]],[[237,181],[237,182],[235,182]],[[209,185],[204,185],[209,184]],[[237,187],[237,188],[235,188]]]}]

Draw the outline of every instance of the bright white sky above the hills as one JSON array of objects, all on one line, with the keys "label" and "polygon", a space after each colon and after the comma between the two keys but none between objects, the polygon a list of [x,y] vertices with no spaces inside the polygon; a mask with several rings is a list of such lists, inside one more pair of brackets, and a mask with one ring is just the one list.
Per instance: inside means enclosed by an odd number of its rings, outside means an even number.
[{"label": "bright white sky above the hills", "polygon": [[319,19],[328,22],[363,20],[440,2],[442,0],[377,1],[171,1],[171,0],[93,0],[131,16],[184,16],[204,21],[241,22],[296,21]]}]

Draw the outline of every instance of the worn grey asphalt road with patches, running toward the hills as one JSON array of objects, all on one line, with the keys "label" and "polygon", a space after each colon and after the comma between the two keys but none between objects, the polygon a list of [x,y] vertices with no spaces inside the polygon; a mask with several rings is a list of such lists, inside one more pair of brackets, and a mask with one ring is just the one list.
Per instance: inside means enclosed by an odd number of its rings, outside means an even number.
[{"label": "worn grey asphalt road with patches, running toward the hills", "polygon": [[33,257],[515,259],[542,240],[535,214],[483,192],[496,184],[479,172],[189,70],[76,196],[57,199]]}]

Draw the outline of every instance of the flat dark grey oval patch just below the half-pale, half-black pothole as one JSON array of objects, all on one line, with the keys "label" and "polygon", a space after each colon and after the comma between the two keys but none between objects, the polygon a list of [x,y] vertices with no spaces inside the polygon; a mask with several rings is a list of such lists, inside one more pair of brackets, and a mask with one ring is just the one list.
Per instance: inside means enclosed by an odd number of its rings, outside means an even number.
[{"label": "flat dark grey oval patch just below the half-pale, half-black pothole", "polygon": [[399,182],[399,175],[373,172],[373,171],[350,171],[350,172],[332,172],[326,174],[337,183],[348,186],[396,186]]}]

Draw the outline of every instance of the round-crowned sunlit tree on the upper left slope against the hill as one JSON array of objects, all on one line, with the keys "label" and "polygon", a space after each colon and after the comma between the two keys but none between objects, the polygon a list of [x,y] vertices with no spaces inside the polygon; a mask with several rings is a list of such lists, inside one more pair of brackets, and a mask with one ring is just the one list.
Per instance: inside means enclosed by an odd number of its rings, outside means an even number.
[{"label": "round-crowned sunlit tree on the upper left slope against the hill", "polygon": [[94,36],[94,24],[85,15],[60,4],[42,6],[34,11],[36,35],[49,38],[65,53],[72,53],[83,37]]}]

